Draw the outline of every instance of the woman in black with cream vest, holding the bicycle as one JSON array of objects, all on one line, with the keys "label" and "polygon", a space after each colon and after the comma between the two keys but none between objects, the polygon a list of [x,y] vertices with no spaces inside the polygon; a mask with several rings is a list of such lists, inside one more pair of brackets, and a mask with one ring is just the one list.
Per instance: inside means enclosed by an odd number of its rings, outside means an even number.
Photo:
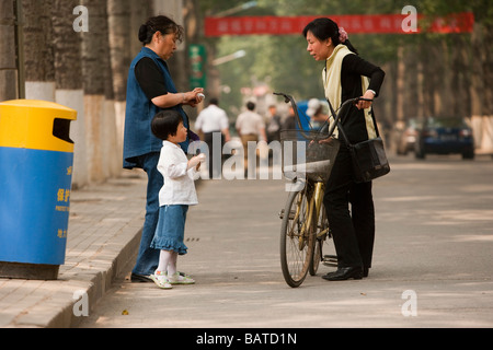
[{"label": "woman in black with cream vest, holding the bicycle", "polygon": [[[308,52],[324,63],[325,97],[333,108],[339,109],[349,98],[366,100],[343,112],[341,122],[349,142],[375,138],[371,101],[378,96],[385,72],[360,58],[347,33],[330,19],[313,20],[305,27],[303,36]],[[367,277],[375,241],[371,182],[356,183],[348,147],[343,139],[341,142],[323,199],[337,254],[337,270],[323,276],[329,281]]]}]

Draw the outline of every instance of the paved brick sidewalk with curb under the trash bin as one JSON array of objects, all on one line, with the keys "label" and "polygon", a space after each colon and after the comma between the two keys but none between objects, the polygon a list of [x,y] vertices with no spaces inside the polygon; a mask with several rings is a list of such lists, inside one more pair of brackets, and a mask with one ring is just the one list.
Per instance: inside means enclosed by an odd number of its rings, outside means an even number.
[{"label": "paved brick sidewalk with curb under the trash bin", "polygon": [[112,281],[131,268],[128,261],[134,261],[144,224],[145,173],[123,172],[121,178],[73,190],[70,201],[58,280],[0,278],[0,327],[74,326],[79,295],[87,293],[88,304],[95,305]]}]

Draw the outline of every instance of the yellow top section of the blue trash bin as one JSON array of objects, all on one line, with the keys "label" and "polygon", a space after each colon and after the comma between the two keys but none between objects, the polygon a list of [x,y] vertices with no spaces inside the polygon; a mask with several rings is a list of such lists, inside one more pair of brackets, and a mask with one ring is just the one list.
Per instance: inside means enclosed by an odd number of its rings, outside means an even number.
[{"label": "yellow top section of the blue trash bin", "polygon": [[54,102],[13,100],[0,103],[0,147],[73,152],[70,122],[77,110]]}]

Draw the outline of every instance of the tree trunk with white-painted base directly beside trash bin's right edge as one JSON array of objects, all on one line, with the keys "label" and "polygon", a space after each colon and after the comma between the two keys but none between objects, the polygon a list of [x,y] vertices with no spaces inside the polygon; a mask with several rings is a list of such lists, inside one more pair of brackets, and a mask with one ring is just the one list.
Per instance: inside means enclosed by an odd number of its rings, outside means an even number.
[{"label": "tree trunk with white-painted base directly beside trash bin's right edge", "polygon": [[81,35],[73,31],[73,9],[79,0],[54,0],[51,11],[56,102],[77,110],[70,136],[74,142],[72,188],[88,184],[84,103],[82,90]]}]

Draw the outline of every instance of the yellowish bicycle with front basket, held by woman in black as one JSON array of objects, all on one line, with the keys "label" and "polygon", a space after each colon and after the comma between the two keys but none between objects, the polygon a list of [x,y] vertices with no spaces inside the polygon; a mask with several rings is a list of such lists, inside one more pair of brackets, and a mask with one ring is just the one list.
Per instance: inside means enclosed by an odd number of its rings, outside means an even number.
[{"label": "yellowish bicycle with front basket, held by woman in black", "polygon": [[320,130],[303,130],[293,96],[274,94],[284,96],[285,102],[291,104],[298,125],[297,130],[282,131],[282,143],[291,142],[290,147],[282,145],[283,172],[285,177],[291,179],[295,188],[279,213],[283,277],[289,287],[297,288],[308,273],[317,275],[320,262],[336,265],[336,256],[323,255],[323,246],[332,237],[323,207],[323,195],[341,147],[340,141],[333,138],[335,126],[345,107],[362,98],[344,102],[337,115],[331,109],[335,116],[332,125],[329,125],[328,120]]}]

